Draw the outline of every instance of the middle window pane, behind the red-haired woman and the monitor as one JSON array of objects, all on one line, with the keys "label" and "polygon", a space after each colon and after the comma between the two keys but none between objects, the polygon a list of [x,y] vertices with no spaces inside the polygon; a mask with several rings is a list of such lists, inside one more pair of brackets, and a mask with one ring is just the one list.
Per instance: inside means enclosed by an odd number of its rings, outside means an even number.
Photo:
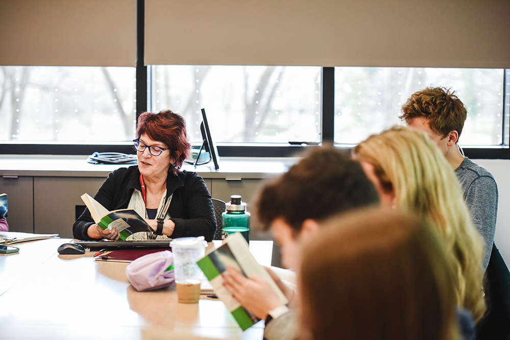
[{"label": "middle window pane, behind the red-haired woman and the monitor", "polygon": [[182,114],[201,142],[205,108],[217,143],[319,142],[321,67],[151,67],[151,110]]}]

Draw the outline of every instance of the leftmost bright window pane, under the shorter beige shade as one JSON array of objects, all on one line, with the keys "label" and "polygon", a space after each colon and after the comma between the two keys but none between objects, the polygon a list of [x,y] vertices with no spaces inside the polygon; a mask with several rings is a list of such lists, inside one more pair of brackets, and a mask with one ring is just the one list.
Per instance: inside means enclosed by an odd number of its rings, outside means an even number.
[{"label": "leftmost bright window pane, under the shorter beige shade", "polygon": [[131,141],[135,68],[0,67],[0,140]]}]

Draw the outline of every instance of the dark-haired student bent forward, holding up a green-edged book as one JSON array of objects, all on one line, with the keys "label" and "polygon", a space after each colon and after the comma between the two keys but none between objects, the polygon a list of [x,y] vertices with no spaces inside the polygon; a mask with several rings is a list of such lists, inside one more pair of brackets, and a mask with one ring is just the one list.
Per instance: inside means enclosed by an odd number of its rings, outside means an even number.
[{"label": "dark-haired student bent forward, holding up a green-edged book", "polygon": [[[302,246],[320,233],[321,221],[377,203],[377,192],[360,164],[339,149],[324,146],[312,149],[289,171],[267,183],[258,195],[256,213],[281,246],[283,265],[295,269]],[[293,292],[272,276],[292,301]],[[262,279],[256,275],[246,278],[233,268],[227,269],[224,279],[226,289],[245,308],[266,320],[264,338],[296,338],[294,312],[280,304]]]}]

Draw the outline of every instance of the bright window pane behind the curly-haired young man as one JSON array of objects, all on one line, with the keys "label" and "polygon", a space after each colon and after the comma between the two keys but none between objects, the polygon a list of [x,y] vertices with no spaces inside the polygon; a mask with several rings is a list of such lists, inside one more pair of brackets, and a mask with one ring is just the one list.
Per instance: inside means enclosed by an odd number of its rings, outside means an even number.
[{"label": "bright window pane behind the curly-haired young man", "polygon": [[503,69],[335,67],[335,142],[356,144],[400,123],[411,94],[444,86],[468,110],[460,144],[502,145],[503,76]]}]

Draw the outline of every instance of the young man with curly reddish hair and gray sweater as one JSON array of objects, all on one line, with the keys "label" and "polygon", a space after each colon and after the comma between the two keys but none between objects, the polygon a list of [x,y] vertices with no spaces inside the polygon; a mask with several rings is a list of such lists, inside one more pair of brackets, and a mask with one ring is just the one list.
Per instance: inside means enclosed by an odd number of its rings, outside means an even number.
[{"label": "young man with curly reddish hair and gray sweater", "polygon": [[482,266],[486,270],[496,231],[498,186],[493,175],[465,157],[457,145],[467,110],[454,93],[443,87],[418,91],[402,106],[400,119],[426,132],[454,170],[473,224],[485,243]]}]

